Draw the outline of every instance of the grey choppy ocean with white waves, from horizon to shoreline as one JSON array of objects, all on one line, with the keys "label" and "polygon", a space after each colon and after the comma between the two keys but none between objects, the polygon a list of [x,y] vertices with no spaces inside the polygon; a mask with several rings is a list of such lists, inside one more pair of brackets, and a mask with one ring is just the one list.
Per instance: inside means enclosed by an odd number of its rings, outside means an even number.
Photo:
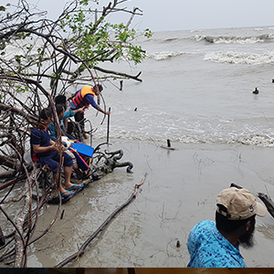
[{"label": "grey choppy ocean with white waves, from horizon to shoreline", "polygon": [[[104,82],[110,138],[274,145],[274,26],[156,32],[137,45],[142,64],[101,65],[142,71],[142,82],[124,80],[123,90],[120,79]],[[96,139],[106,138],[100,115],[86,116]]]}]

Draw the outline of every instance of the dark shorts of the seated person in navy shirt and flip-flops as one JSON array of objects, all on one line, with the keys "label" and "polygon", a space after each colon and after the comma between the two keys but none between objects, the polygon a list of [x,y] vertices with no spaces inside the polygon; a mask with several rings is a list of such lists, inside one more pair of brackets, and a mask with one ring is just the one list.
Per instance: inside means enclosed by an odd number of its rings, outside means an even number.
[{"label": "dark shorts of the seated person in navy shirt and flip-flops", "polygon": [[[73,160],[67,153],[62,153],[62,157],[64,157],[63,166],[73,165]],[[40,157],[37,163],[41,163],[42,165],[47,164],[52,172],[56,174],[58,172],[59,159],[60,157],[58,151],[52,151],[49,155],[45,157]]]}]

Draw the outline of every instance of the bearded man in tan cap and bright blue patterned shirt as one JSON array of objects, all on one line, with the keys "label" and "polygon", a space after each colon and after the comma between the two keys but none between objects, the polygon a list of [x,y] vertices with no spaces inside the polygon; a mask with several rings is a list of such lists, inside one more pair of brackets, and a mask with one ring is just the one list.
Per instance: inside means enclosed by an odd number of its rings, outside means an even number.
[{"label": "bearded man in tan cap and bright blue patterned shirt", "polygon": [[216,199],[216,223],[204,220],[195,225],[187,239],[188,268],[247,268],[239,252],[253,246],[255,216],[265,216],[264,205],[247,189],[229,187]]}]

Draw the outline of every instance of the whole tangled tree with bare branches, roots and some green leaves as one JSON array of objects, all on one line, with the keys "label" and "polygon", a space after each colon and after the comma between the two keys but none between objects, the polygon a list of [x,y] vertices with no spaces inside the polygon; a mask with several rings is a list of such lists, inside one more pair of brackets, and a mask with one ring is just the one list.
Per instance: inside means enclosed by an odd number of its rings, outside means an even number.
[{"label": "whole tangled tree with bare branches, roots and some green leaves", "polygon": [[[130,25],[134,16],[142,16],[139,8],[121,7],[126,0],[111,1],[101,8],[92,8],[90,1],[74,0],[66,6],[56,20],[47,19],[47,13],[38,11],[26,0],[18,5],[3,5],[0,10],[0,211],[5,225],[0,227],[0,262],[9,259],[15,267],[27,266],[30,244],[44,237],[59,215],[49,221],[44,232],[34,238],[39,210],[55,196],[55,203],[65,200],[57,195],[52,178],[47,180],[45,168],[32,163],[29,136],[36,126],[43,108],[50,107],[57,123],[59,150],[61,129],[54,99],[64,94],[77,79],[85,84],[89,77],[94,83],[97,71],[107,77],[140,79],[137,76],[100,68],[102,62],[124,58],[129,64],[138,64],[145,57],[142,47],[134,45],[137,32]],[[92,3],[91,5],[97,4]],[[111,13],[127,13],[127,24],[110,23]],[[151,37],[151,32],[140,33]],[[100,79],[100,81],[102,81]],[[76,89],[76,87],[73,87]],[[117,153],[95,150],[90,181],[98,180],[114,168],[132,163],[119,163]],[[20,195],[13,195],[20,190]],[[35,199],[34,199],[35,197]],[[13,216],[4,210],[4,204],[23,203]],[[15,207],[16,207],[15,205]],[[9,238],[7,241],[6,239]]]}]

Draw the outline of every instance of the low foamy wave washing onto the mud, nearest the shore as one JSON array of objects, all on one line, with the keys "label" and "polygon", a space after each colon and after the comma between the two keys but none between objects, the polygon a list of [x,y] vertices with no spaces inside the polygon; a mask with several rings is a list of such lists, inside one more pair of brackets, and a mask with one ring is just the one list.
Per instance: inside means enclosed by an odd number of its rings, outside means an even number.
[{"label": "low foamy wave washing onto the mud, nearest the shore", "polygon": [[[152,131],[153,128],[153,131]],[[209,128],[209,130],[208,130]],[[100,140],[106,139],[105,130],[99,129],[96,132],[96,138]],[[241,130],[225,128],[224,125],[212,127],[209,124],[206,129],[200,122],[196,124],[185,124],[179,126],[175,122],[173,124],[147,122],[142,125],[141,129],[131,128],[130,126],[116,126],[115,130],[111,130],[111,138],[132,141],[155,141],[166,142],[170,139],[171,142],[181,143],[216,143],[216,144],[244,144],[255,145],[258,147],[274,147],[274,134],[271,129],[258,129],[245,125]]]}]

